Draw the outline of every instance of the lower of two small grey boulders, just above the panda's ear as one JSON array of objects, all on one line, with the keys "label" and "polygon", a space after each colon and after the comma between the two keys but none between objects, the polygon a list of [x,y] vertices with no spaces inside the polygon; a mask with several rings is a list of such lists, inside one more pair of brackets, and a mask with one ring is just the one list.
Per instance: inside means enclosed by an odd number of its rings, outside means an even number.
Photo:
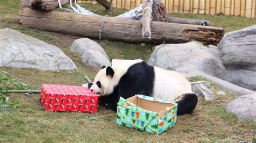
[{"label": "lower of two small grey boulders, just above the panda's ear", "polygon": [[111,66],[111,62],[102,53],[95,50],[87,50],[83,54],[83,62],[92,67]]}]

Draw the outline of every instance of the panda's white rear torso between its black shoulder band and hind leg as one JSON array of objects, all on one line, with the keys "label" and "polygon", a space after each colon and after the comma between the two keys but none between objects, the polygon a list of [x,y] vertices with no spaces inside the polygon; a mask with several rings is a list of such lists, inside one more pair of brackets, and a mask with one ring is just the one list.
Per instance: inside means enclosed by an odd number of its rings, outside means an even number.
[{"label": "panda's white rear torso between its black shoulder band and hind leg", "polygon": [[192,92],[190,82],[183,75],[158,67],[154,67],[154,73],[153,97],[174,102],[180,95]]}]

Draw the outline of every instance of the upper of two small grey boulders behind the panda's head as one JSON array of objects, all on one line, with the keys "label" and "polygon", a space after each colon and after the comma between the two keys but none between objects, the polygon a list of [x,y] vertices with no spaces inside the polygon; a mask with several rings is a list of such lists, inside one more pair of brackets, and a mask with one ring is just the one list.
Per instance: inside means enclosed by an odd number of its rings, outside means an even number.
[{"label": "upper of two small grey boulders behind the panda's head", "polygon": [[88,50],[95,50],[100,52],[102,55],[104,55],[107,59],[109,59],[109,56],[107,56],[104,49],[99,46],[99,44],[89,38],[81,38],[77,39],[73,42],[70,51],[75,52],[79,55],[83,55]]}]

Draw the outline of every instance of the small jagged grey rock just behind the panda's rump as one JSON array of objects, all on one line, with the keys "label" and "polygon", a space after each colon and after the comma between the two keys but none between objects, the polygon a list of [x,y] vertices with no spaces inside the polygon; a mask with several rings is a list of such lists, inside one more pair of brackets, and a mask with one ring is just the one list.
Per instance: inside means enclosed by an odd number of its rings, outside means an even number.
[{"label": "small jagged grey rock just behind the panda's rump", "polygon": [[192,91],[196,95],[203,97],[206,101],[212,101],[214,98],[213,91],[211,89],[208,89],[204,84],[194,85]]}]

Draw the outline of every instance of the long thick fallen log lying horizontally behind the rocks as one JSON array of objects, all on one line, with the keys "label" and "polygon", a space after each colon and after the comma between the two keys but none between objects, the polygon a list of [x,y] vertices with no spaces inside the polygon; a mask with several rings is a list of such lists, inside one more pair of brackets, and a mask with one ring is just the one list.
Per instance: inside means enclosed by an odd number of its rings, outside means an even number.
[{"label": "long thick fallen log lying horizontally behind the rocks", "polygon": [[[98,38],[99,28],[103,23],[103,39],[141,43],[142,23],[139,20],[115,17],[89,16],[59,11],[36,11],[24,8],[18,12],[18,20],[25,27],[47,31]],[[205,45],[217,45],[224,35],[224,28],[200,25],[151,22],[151,40],[161,44],[184,43],[191,40]]]}]

